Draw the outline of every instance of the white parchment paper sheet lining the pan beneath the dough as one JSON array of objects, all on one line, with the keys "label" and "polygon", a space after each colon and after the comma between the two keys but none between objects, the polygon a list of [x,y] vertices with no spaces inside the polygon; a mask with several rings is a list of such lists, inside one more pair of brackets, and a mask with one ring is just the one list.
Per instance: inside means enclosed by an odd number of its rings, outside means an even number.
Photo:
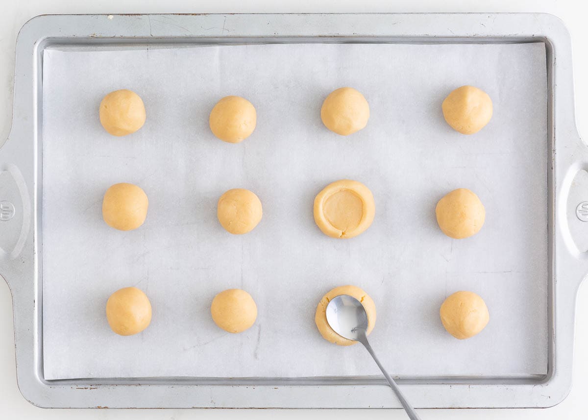
[{"label": "white parchment paper sheet lining the pan beneath the dough", "polygon": [[[440,104],[471,84],[494,116],[473,136],[452,131]],[[353,86],[368,126],[348,137],[320,121],[323,99]],[[130,136],[103,131],[103,95],[129,88],[147,121]],[[248,98],[258,125],[242,144],[208,128],[225,95]],[[392,374],[519,376],[547,369],[547,145],[544,44],[298,44],[138,51],[44,52],[42,294],[46,379],[142,376],[377,375],[360,345],[324,341],[316,304],[342,284],[376,302],[370,341]],[[364,234],[328,238],[312,217],[329,182],[357,179],[375,196]],[[102,195],[132,182],[149,196],[145,224],[119,232]],[[436,225],[437,200],[470,188],[486,206],[473,238]],[[233,236],[216,201],[248,188],[262,222]],[[153,306],[141,334],[110,331],[104,307],[137,286]],[[243,288],[258,320],[232,335],[209,305]],[[458,341],[439,321],[460,289],[485,299],[490,323]]]}]

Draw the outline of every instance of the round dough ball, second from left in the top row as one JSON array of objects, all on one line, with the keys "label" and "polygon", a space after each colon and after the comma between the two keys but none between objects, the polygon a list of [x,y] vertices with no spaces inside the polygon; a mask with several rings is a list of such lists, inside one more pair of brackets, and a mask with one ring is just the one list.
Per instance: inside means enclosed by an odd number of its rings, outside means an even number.
[{"label": "round dough ball, second from left in the top row", "polygon": [[248,138],[257,121],[255,107],[240,96],[225,96],[216,102],[208,119],[212,134],[228,143]]}]

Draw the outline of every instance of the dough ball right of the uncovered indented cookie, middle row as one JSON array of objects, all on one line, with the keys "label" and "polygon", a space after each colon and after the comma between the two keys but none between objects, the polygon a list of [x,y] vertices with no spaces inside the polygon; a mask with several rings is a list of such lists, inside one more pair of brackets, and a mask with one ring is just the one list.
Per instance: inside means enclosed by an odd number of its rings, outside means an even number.
[{"label": "dough ball right of the uncovered indented cookie, middle row", "polygon": [[458,188],[439,200],[435,214],[445,235],[463,239],[482,229],[486,209],[476,194],[467,188]]}]

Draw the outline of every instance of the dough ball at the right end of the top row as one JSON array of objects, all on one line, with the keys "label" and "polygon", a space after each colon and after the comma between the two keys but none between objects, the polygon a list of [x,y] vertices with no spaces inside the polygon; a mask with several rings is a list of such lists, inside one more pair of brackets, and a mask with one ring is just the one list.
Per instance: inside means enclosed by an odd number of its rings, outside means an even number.
[{"label": "dough ball at the right end of the top row", "polygon": [[461,134],[477,133],[492,118],[492,99],[474,86],[455,89],[447,95],[441,107],[447,124]]}]

